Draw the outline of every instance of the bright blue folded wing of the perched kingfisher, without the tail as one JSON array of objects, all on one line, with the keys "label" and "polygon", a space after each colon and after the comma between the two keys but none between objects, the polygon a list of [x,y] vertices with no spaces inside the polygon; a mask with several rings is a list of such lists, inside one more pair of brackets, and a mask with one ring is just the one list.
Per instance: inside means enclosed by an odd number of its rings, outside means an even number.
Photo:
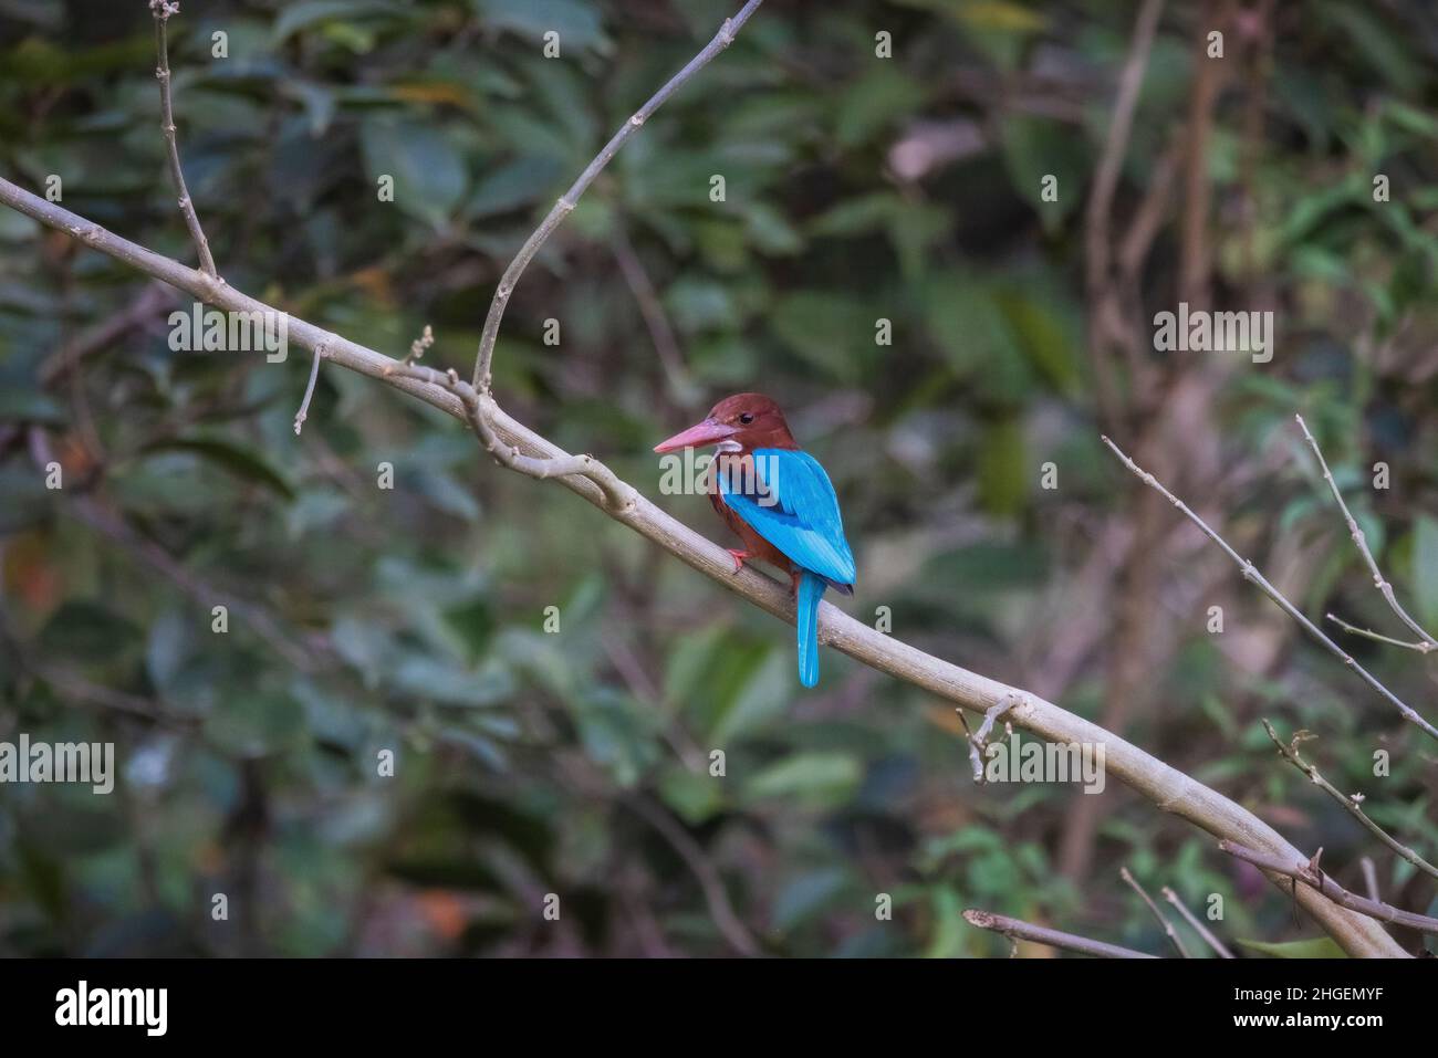
[{"label": "bright blue folded wing of the perched kingfisher, without the tail", "polygon": [[854,582],[854,555],[844,539],[834,486],[807,451],[755,448],[761,487],[742,490],[719,474],[725,505],[795,565],[834,584]]}]

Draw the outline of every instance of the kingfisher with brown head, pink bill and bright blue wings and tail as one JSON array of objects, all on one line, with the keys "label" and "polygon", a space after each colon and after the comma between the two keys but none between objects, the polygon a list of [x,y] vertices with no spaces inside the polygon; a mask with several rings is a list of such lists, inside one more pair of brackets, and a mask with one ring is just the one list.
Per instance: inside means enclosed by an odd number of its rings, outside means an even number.
[{"label": "kingfisher with brown head, pink bill and bright blue wings and tail", "polygon": [[818,604],[825,588],[854,594],[854,555],[844,539],[834,486],[794,441],[784,413],[758,392],[715,404],[702,423],[654,451],[718,446],[705,479],[709,502],[739,539],[733,571],[762,559],[789,575],[800,645],[800,683],[818,683]]}]

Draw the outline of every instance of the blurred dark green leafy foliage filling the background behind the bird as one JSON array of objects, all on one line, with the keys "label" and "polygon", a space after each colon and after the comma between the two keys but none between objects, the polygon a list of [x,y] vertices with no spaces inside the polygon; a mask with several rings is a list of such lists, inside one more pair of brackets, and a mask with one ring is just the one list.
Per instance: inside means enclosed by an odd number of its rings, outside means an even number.
[{"label": "blurred dark green leafy foliage filling the background behind the bird", "polygon": [[[735,7],[186,4],[178,139],[221,273],[394,355],[430,325],[421,362],[467,375],[505,264]],[[1169,9],[1117,233],[1188,134],[1198,9]],[[496,394],[720,539],[707,500],[659,494],[650,448],[718,397],[766,391],[843,500],[860,575],[831,602],[869,622],[886,607],[896,637],[1099,723],[1126,713],[1120,735],[1324,847],[1352,887],[1372,842],[1274,760],[1258,717],[1316,730],[1324,773],[1432,860],[1431,753],[1333,658],[1283,640],[1293,627],[1235,572],[1214,579],[1214,552],[1183,549],[1166,510],[1140,621],[1162,634],[1117,700],[1148,556],[1125,558],[1142,486],[1104,430],[1162,438],[1171,484],[1311,618],[1402,635],[1293,433],[1301,411],[1399,597],[1438,624],[1434,22],[1311,9],[1281,12],[1261,92],[1229,34],[1244,73],[1204,158],[1215,302],[1277,308],[1274,362],[1148,345],[1176,300],[1186,172],[1122,292],[1132,355],[1166,384],[1202,380],[1198,411],[1179,385],[1137,392],[1119,354],[1106,420],[1087,346],[1084,207],[1133,12],[1018,0],[765,4],[531,264]],[[0,3],[0,172],[42,194],[60,175],[65,207],[190,263],[151,33],[141,0]],[[1333,954],[1294,940],[1290,901],[1208,835],[1116,782],[1087,873],[1066,877],[1077,786],[975,786],[948,706],[837,651],[802,693],[788,625],[374,380],[324,365],[296,438],[308,356],[177,352],[165,316],[190,305],[173,300],[40,381],[142,288],[0,210],[0,730],[115,742],[121,768],[109,798],[4,791],[0,953],[634,954],[656,936],[731,953],[715,880],[775,954],[1005,954],[966,907],[1163,952],[1117,881],[1129,864],[1195,910],[1221,896],[1215,929],[1263,937],[1238,942],[1255,953]],[[1431,658],[1346,645],[1431,700]],[[1409,865],[1379,871],[1405,906],[1432,900]],[[216,891],[227,924],[209,921]]]}]

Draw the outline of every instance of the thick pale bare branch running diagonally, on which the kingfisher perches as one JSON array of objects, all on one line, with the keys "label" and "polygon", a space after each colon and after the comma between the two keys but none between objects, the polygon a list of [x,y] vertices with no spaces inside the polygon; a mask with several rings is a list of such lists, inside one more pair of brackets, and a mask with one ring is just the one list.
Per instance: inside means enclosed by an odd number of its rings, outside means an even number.
[{"label": "thick pale bare branch running diagonally, on which the kingfisher perches", "polygon": [[[279,312],[279,309],[229,285],[216,282],[213,276],[147,250],[92,220],[16,187],[4,178],[0,178],[0,204],[63,231],[85,246],[161,279],[216,308],[247,313]],[[400,361],[295,316],[289,319],[288,334],[290,342],[301,349],[312,352],[316,345],[324,344],[325,358],[331,362],[416,397],[462,423],[469,420],[466,401],[454,392],[456,385],[449,377],[430,372],[430,377],[421,378],[400,371]],[[487,401],[495,433],[515,451],[546,463],[574,459],[548,438],[508,415],[492,400],[486,397],[475,400],[482,404]],[[709,576],[719,586],[741,595],[774,617],[794,622],[794,602],[789,599],[787,585],[778,584],[752,566],[745,566],[735,574],[729,552],[660,510],[617,477],[614,482],[628,490],[631,502],[613,503],[604,486],[594,480],[597,473],[591,469],[591,473],[575,473],[558,480],[565,489],[608,518],[633,529],[692,569]],[[610,476],[613,477],[613,474]],[[894,635],[880,632],[863,621],[856,621],[830,602],[820,607],[820,641],[848,654],[861,664],[928,690],[974,713],[982,714],[988,709],[1008,702],[1014,694],[1024,694],[1024,704],[1008,713],[1015,726],[1050,742],[1103,742],[1109,773],[1136,789],[1162,811],[1172,812],[1214,837],[1234,838],[1248,847],[1263,848],[1276,855],[1299,855],[1283,835],[1237,802],[1145,753],[1117,735],[1060,709],[1037,694],[1027,694],[1017,687],[926,654]],[[1339,907],[1307,888],[1300,891],[1299,900],[1349,954],[1391,957],[1408,954],[1370,919]]]}]

